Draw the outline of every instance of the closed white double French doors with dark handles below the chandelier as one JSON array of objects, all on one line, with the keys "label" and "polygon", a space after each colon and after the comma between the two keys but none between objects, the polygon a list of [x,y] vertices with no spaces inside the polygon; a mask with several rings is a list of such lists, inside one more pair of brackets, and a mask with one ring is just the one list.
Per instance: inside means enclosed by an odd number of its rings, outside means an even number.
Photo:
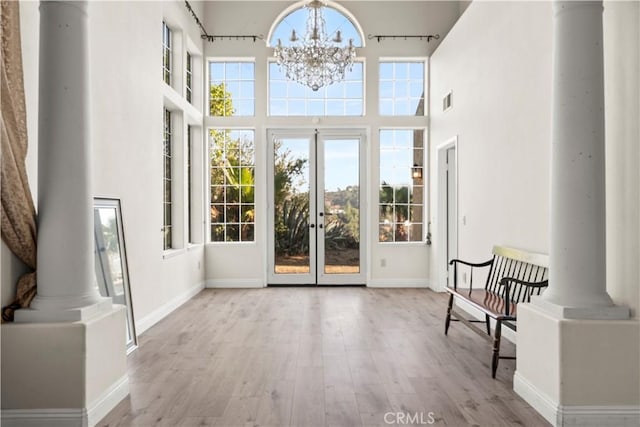
[{"label": "closed white double French doors with dark handles below the chandelier", "polygon": [[271,130],[268,283],[365,283],[364,132]]}]

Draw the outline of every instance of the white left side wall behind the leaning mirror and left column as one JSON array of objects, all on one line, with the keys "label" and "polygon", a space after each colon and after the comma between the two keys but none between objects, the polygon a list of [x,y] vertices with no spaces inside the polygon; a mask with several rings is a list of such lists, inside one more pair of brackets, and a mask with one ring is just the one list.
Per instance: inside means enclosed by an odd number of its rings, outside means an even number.
[{"label": "white left side wall behind the leaning mirror and left column", "polygon": [[[202,16],[203,4],[190,3]],[[27,169],[34,198],[38,6],[38,2],[21,3],[30,143]],[[163,19],[186,29],[182,40],[190,39],[190,48],[200,55],[202,42],[184,2],[90,2],[88,13],[94,195],[121,200],[134,315],[136,324],[142,321],[146,328],[204,284],[202,245],[187,248],[185,244],[171,257],[163,254]],[[3,305],[15,295],[19,271],[3,245]]]}]

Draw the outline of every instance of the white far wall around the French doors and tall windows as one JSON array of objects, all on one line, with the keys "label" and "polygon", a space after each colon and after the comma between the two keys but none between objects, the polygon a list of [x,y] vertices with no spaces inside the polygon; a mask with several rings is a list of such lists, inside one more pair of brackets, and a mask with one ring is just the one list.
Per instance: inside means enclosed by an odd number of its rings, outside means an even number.
[{"label": "white far wall around the French doors and tall windows", "polygon": [[[276,17],[291,2],[210,2],[205,6],[206,28],[210,34],[261,34],[266,36]],[[459,16],[457,2],[344,2],[359,21],[365,37],[368,34],[440,34],[444,38]],[[242,16],[241,20],[231,17]],[[426,286],[428,284],[429,251],[424,243],[389,245],[377,242],[378,194],[378,129],[384,126],[426,127],[428,118],[387,118],[378,116],[377,77],[379,57],[428,57],[438,41],[365,40],[366,47],[358,55],[366,57],[367,94],[366,117],[321,118],[318,124],[311,117],[267,117],[267,61],[272,55],[265,43],[258,41],[216,40],[205,42],[206,57],[252,57],[256,61],[256,116],[249,118],[205,117],[206,126],[239,126],[256,129],[256,218],[255,244],[209,244],[206,247],[207,283],[211,286],[262,286],[266,281],[267,221],[266,221],[266,130],[286,127],[356,128],[369,131],[367,142],[370,225],[367,228],[370,266],[368,284],[373,286]],[[428,209],[428,208],[427,208]],[[428,217],[428,210],[425,212]],[[381,266],[384,259],[386,266]]]}]

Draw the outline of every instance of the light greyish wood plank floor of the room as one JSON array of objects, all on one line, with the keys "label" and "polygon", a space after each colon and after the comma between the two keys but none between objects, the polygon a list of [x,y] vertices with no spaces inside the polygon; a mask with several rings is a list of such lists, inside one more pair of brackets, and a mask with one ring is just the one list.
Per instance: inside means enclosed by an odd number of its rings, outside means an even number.
[{"label": "light greyish wood plank floor of the room", "polygon": [[98,425],[548,425],[512,390],[515,361],[493,380],[485,341],[460,323],[445,337],[445,303],[424,289],[204,290],[140,337],[131,394]]}]

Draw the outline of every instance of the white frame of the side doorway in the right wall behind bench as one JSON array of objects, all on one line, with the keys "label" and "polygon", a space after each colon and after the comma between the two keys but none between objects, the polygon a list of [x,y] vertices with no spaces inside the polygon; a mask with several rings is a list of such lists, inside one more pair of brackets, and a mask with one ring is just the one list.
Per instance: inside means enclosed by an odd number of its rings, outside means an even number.
[{"label": "white frame of the side doorway in the right wall behind bench", "polygon": [[[450,223],[450,216],[447,215],[447,151],[450,149],[455,150],[455,168],[453,174],[455,176],[455,208],[453,217],[455,221]],[[448,275],[448,262],[447,259],[447,227],[451,227],[454,236],[455,250],[454,253],[458,254],[458,189],[459,189],[459,161],[458,161],[458,136],[454,136],[442,144],[436,147],[436,164],[437,164],[437,179],[438,179],[438,282],[436,284],[437,290],[444,290],[447,285]]]}]

